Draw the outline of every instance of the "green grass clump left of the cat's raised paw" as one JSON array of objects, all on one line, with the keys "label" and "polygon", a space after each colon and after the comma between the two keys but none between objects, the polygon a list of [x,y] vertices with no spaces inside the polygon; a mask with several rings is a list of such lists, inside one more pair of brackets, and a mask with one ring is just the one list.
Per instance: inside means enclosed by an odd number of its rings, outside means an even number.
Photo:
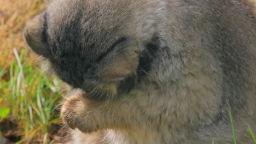
[{"label": "green grass clump left of the cat's raised paw", "polygon": [[[55,106],[61,100],[61,95],[59,91],[53,91],[58,89],[60,82],[46,78],[38,67],[22,61],[28,55],[25,50],[19,55],[14,48],[14,54],[16,61],[10,65],[9,78],[1,79],[0,94],[3,96],[0,97],[0,105],[5,111],[0,116],[2,121],[5,119],[13,123],[13,135],[21,137],[17,143],[49,143],[51,125],[60,123]],[[0,76],[8,77],[7,73],[0,73]]]}]

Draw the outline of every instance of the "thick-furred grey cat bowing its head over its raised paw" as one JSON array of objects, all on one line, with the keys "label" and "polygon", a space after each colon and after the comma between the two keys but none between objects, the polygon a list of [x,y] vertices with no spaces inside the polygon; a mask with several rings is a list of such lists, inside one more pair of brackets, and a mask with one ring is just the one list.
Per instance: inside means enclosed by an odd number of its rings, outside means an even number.
[{"label": "thick-furred grey cat bowing its head over its raised paw", "polygon": [[61,110],[73,143],[232,143],[229,107],[237,143],[253,143],[253,10],[245,0],[55,0],[25,38],[74,89]]}]

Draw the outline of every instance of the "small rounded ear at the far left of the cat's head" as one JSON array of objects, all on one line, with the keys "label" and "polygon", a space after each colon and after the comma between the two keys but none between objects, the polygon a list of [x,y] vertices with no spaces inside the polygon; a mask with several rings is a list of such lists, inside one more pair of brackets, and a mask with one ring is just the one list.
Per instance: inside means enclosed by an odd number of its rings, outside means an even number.
[{"label": "small rounded ear at the far left of the cat's head", "polygon": [[35,16],[32,20],[26,23],[24,29],[24,38],[30,48],[38,55],[49,57],[49,47],[47,42],[47,23],[45,13]]}]

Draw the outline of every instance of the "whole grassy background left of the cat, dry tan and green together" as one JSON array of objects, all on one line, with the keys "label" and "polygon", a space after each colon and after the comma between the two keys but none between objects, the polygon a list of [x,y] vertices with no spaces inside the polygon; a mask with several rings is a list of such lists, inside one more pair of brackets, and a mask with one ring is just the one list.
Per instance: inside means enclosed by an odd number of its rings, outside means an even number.
[{"label": "whole grassy background left of the cat, dry tan and green together", "polygon": [[61,82],[46,77],[22,31],[45,0],[0,0],[0,143],[63,143]]}]

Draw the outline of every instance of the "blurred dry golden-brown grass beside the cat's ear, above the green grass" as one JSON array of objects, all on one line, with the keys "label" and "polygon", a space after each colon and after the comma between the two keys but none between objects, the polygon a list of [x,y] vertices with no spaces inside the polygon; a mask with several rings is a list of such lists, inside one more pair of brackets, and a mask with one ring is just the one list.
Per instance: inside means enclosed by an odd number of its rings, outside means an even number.
[{"label": "blurred dry golden-brown grass beside the cat's ear, above the green grass", "polygon": [[[15,61],[13,47],[20,52],[27,49],[22,29],[27,20],[44,9],[43,0],[1,0],[0,1],[0,66],[8,69]],[[30,58],[30,57],[27,57]]]}]

